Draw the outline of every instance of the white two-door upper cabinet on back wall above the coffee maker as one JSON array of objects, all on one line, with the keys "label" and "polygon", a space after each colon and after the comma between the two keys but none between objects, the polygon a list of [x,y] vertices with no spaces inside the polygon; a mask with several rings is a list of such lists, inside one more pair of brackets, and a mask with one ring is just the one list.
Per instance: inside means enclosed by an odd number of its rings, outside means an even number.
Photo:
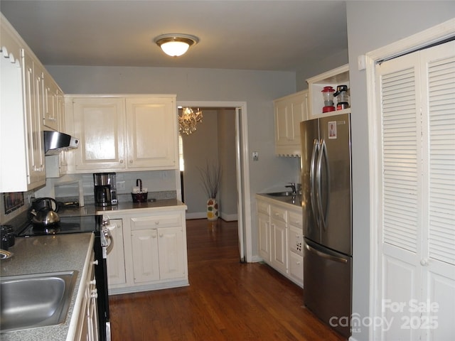
[{"label": "white two-door upper cabinet on back wall above the coffee maker", "polygon": [[68,173],[176,169],[175,95],[67,96],[68,121],[80,139]]}]

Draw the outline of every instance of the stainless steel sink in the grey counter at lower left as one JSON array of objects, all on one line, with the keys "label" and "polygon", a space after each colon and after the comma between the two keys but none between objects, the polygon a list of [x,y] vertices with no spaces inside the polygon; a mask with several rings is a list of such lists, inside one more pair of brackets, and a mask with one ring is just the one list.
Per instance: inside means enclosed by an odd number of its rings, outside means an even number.
[{"label": "stainless steel sink in the grey counter at lower left", "polygon": [[0,280],[0,331],[65,323],[77,271],[7,276]]}]

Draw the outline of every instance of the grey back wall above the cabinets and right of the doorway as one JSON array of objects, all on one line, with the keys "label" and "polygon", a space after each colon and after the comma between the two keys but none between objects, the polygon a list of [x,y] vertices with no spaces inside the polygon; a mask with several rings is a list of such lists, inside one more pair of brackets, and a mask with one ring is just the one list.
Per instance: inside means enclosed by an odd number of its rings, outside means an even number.
[{"label": "grey back wall above the cabinets and right of the doorway", "polygon": [[[252,253],[257,255],[254,193],[298,180],[299,158],[274,155],[273,99],[296,92],[295,72],[166,67],[82,67],[46,65],[67,94],[176,94],[178,101],[246,102],[250,162]],[[249,224],[248,224],[249,223]]]}]

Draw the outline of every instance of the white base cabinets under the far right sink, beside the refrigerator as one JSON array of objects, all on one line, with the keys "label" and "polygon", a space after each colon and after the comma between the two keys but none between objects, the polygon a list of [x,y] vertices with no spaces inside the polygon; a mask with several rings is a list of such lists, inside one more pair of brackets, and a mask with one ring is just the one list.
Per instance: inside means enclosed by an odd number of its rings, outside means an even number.
[{"label": "white base cabinets under the far right sink, beside the refrigerator", "polygon": [[259,256],[303,288],[304,256],[301,207],[256,195]]}]

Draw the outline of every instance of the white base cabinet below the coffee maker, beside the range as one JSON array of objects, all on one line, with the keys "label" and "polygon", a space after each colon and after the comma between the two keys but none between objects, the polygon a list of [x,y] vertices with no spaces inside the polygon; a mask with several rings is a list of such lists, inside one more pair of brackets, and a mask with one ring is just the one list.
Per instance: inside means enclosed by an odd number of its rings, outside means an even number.
[{"label": "white base cabinet below the coffee maker, beside the range", "polygon": [[122,226],[114,229],[114,247],[107,255],[109,294],[188,286],[185,209],[104,212],[111,224]]}]

